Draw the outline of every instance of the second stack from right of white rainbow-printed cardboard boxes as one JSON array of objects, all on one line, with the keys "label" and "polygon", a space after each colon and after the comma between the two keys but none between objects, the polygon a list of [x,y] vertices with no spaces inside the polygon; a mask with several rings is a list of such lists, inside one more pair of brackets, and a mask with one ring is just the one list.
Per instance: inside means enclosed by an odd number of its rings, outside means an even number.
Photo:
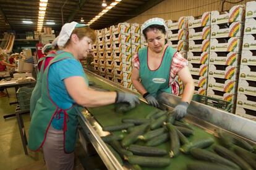
[{"label": "second stack from right of white rainbow-printed cardboard boxes", "polygon": [[[207,96],[236,104],[244,6],[220,14],[211,11],[211,40]],[[232,111],[234,112],[234,111]]]}]

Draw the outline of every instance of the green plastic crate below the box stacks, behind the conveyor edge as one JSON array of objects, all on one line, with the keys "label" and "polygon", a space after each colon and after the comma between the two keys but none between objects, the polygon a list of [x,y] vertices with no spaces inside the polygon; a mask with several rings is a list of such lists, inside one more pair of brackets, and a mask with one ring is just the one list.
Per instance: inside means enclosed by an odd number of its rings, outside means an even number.
[{"label": "green plastic crate below the box stacks, behind the conveyor edge", "polygon": [[208,96],[203,96],[196,94],[192,98],[193,101],[197,101],[198,103],[202,103],[213,108],[218,108],[229,113],[233,113],[233,104],[229,101],[224,101],[216,98],[211,98]]}]

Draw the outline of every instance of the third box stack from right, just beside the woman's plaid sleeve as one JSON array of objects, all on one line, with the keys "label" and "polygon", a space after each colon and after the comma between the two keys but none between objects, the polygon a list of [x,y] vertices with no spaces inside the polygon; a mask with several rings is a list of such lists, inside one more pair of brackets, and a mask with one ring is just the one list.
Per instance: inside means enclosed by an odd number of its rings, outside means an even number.
[{"label": "third box stack from right, just beside the woman's plaid sleeve", "polygon": [[189,70],[195,83],[195,93],[206,95],[210,43],[210,12],[189,17]]}]

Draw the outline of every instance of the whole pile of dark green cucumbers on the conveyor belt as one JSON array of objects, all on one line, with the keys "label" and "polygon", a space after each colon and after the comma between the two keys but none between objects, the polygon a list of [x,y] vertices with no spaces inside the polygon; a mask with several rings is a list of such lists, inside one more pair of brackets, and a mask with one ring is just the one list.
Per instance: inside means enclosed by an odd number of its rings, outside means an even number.
[{"label": "whole pile of dark green cucumbers on the conveyor belt", "polygon": [[[102,139],[119,163],[127,161],[132,169],[166,167],[181,153],[196,159],[187,163],[187,169],[256,169],[255,146],[223,132],[218,134],[221,145],[213,145],[212,137],[190,140],[193,128],[186,121],[176,121],[168,111],[153,111],[145,119],[122,119],[122,124],[103,130],[126,130],[126,135],[110,134]],[[166,142],[169,150],[157,148]]]}]

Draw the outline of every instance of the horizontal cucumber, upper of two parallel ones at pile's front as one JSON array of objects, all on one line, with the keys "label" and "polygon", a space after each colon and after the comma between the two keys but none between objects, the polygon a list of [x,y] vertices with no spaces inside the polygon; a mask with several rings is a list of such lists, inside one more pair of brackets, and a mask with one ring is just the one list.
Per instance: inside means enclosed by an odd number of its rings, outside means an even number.
[{"label": "horizontal cucumber, upper of two parallel ones at pile's front", "polygon": [[164,156],[167,154],[166,150],[140,145],[130,145],[128,150],[131,151],[134,155],[140,156]]}]

